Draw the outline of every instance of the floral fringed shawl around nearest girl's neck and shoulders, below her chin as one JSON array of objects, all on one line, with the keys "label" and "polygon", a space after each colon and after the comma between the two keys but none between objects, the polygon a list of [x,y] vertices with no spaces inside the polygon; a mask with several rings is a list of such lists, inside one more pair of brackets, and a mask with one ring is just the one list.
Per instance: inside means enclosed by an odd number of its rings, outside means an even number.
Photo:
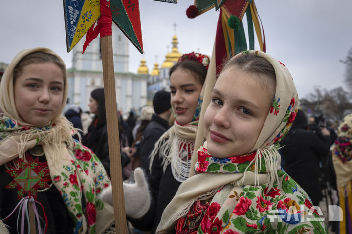
[{"label": "floral fringed shawl around nearest girl's neck and shoulders, below her chin", "polygon": [[327,233],[308,194],[289,175],[277,170],[278,178],[270,189],[270,175],[265,173],[269,161],[262,160],[257,173],[252,160],[255,153],[219,159],[201,147],[198,156],[196,171],[200,174],[181,184],[163,213],[158,234],[171,233],[198,200],[211,201],[197,234]]}]

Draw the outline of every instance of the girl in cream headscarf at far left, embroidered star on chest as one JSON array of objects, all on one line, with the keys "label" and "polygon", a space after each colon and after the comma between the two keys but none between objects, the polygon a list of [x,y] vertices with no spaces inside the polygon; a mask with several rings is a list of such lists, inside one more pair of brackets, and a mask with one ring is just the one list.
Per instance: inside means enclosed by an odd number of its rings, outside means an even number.
[{"label": "girl in cream headscarf at far left, embroidered star on chest", "polygon": [[[21,51],[1,81],[0,218],[10,233],[103,233],[113,209],[100,199],[110,185],[96,155],[72,136],[61,115],[68,79],[47,48]],[[111,233],[111,232],[110,232]]]}]

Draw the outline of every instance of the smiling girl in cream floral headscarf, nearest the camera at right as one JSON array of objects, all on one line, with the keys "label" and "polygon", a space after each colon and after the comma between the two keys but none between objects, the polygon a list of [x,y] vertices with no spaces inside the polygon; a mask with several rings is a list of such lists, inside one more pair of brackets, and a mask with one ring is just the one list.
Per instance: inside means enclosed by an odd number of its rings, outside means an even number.
[{"label": "smiling girl in cream floral headscarf, nearest the camera at right", "polygon": [[196,175],[181,184],[157,233],[325,233],[307,193],[280,170],[278,143],[297,107],[284,64],[260,51],[232,58],[204,114]]}]

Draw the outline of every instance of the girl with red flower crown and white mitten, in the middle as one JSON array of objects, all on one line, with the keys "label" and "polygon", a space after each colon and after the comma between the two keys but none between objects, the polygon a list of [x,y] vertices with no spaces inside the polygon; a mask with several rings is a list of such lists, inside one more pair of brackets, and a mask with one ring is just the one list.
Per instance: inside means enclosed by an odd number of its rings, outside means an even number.
[{"label": "girl with red flower crown and white mitten, in the middle", "polygon": [[[148,186],[140,169],[135,170],[136,184],[124,184],[126,214],[135,228],[155,233],[165,207],[189,176],[209,62],[208,56],[192,52],[170,69],[175,123],[155,143],[149,168],[143,168]],[[111,195],[107,201],[112,202]]]}]

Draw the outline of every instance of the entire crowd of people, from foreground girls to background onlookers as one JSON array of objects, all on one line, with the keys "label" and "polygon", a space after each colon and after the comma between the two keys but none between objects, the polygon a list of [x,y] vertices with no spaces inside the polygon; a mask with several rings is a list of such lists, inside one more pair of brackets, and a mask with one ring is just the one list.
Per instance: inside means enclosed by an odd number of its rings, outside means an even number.
[{"label": "entire crowd of people, from foreground girls to background onlookers", "polygon": [[[313,131],[284,64],[245,51],[216,78],[210,59],[183,54],[170,92],[118,114],[129,232],[352,233],[352,114]],[[104,88],[88,113],[67,94],[65,64],[47,48],[19,52],[3,74],[1,233],[28,233],[31,209],[39,233],[115,233]],[[314,208],[327,194],[343,210],[337,224]]]}]

